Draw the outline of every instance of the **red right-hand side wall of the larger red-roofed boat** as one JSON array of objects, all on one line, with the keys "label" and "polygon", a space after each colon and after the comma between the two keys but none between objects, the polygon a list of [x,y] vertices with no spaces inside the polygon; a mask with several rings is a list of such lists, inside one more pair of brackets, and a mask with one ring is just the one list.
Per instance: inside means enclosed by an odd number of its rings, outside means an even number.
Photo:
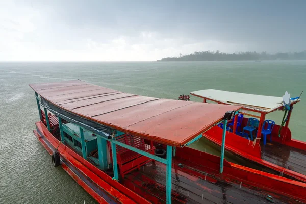
[{"label": "red right-hand side wall of the larger red-roofed boat", "polygon": [[[189,161],[189,166],[201,168],[204,172],[209,171],[217,177],[222,177],[218,173],[220,158],[217,156],[189,147],[184,147],[182,149],[177,149],[176,158],[184,159],[186,165]],[[226,160],[224,160],[224,162],[225,161]],[[229,163],[227,161],[226,165],[224,165],[223,176],[223,179],[228,179],[239,185],[240,182],[242,182],[244,185],[251,188],[256,187],[277,193],[279,195],[299,198],[303,202],[306,201],[306,184],[302,182],[286,179],[285,177],[265,173],[259,170],[250,169],[234,163]]]}]

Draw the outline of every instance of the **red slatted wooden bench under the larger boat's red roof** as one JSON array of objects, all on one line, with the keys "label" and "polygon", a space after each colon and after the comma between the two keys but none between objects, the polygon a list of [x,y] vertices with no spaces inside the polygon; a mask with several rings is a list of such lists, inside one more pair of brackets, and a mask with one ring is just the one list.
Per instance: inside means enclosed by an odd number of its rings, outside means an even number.
[{"label": "red slatted wooden bench under the larger boat's red roof", "polygon": [[[124,134],[118,136],[116,140],[118,142],[122,142],[129,146],[135,147],[137,149],[149,152],[150,154],[154,154],[155,147],[152,145],[145,144],[144,140],[141,139],[140,137]],[[148,157],[140,155],[135,151],[126,149],[119,145],[116,145],[116,150],[117,150],[117,164],[119,166],[120,174],[123,178],[125,174],[135,169],[140,169],[142,165],[152,161],[152,159]]]}]

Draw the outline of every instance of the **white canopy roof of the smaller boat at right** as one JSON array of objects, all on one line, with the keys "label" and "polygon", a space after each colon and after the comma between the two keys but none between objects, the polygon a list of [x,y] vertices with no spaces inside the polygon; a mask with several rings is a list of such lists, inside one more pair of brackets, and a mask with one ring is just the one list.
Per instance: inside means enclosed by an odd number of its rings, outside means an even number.
[{"label": "white canopy roof of the smaller boat at right", "polygon": [[[275,96],[236,93],[215,89],[193,91],[190,94],[224,104],[242,105],[244,108],[266,113],[283,106],[283,98]],[[294,101],[291,101],[291,103]]]}]

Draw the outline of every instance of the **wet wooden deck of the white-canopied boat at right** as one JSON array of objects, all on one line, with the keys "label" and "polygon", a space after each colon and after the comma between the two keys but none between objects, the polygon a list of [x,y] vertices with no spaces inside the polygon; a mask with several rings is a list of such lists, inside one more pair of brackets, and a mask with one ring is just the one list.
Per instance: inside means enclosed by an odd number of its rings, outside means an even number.
[{"label": "wet wooden deck of the white-canopied boat at right", "polygon": [[[268,138],[267,138],[268,139]],[[306,151],[279,143],[263,145],[262,159],[278,166],[306,175]]]}]

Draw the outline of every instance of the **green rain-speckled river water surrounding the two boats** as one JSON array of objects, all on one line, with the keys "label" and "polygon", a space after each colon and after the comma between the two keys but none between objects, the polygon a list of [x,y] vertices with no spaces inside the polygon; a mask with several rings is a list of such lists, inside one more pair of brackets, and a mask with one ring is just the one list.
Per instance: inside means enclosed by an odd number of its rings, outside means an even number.
[{"label": "green rain-speckled river water surrounding the two boats", "polygon": [[[95,203],[33,135],[39,115],[29,83],[81,79],[144,96],[177,99],[201,89],[292,97],[306,91],[306,61],[0,63],[0,203]],[[306,103],[295,105],[292,137],[306,141]],[[202,101],[192,97],[192,101]],[[280,123],[283,112],[266,118]],[[188,115],[186,116],[188,117]],[[204,139],[193,148],[219,155]],[[248,163],[227,157],[228,160]]]}]

